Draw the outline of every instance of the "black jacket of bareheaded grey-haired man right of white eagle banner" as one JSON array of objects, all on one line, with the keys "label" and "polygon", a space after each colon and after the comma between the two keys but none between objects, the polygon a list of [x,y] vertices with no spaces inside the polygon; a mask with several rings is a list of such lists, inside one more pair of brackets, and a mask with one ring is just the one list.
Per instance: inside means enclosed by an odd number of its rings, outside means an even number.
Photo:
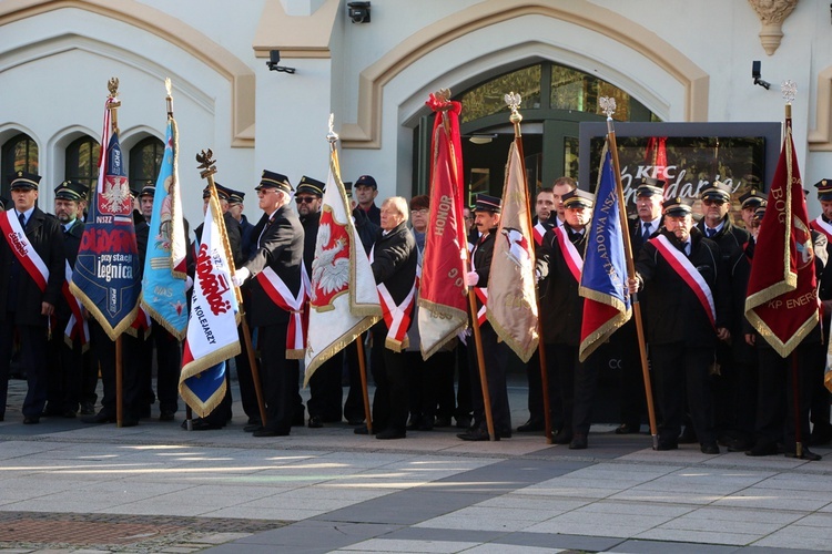
[{"label": "black jacket of bareheaded grey-haired man right of white eagle banner", "polygon": [[410,294],[418,258],[416,239],[406,223],[376,238],[373,246],[373,277],[377,285],[384,284],[387,287],[396,305],[402,304]]}]

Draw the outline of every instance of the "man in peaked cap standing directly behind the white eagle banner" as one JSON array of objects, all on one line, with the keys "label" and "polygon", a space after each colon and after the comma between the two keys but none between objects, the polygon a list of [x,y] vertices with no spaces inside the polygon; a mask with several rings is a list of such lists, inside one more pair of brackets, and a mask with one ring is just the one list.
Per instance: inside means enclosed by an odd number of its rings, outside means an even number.
[{"label": "man in peaked cap standing directly behind the white eagle banner", "polygon": [[[303,265],[306,275],[312,275],[312,261],[315,259],[317,229],[321,225],[321,206],[326,185],[318,179],[301,177],[295,191],[297,214],[303,226]],[[308,306],[305,308],[307,309]],[[341,369],[344,356],[338,352],[321,365],[310,378],[308,425],[312,429],[324,427],[324,423],[341,421]]]}]

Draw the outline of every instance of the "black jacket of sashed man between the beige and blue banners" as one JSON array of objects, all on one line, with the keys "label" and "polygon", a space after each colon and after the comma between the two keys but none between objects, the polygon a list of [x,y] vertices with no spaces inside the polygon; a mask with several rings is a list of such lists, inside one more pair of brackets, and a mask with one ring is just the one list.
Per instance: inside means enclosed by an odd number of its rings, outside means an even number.
[{"label": "black jacket of sashed man between the beige and blue banners", "polygon": [[[589,224],[584,234],[576,233],[568,225],[562,227],[569,240],[584,258],[587,247]],[[546,233],[544,244],[538,248],[537,270],[540,273],[540,317],[544,341],[569,346],[580,345],[580,326],[584,320],[584,298],[578,295],[579,283],[572,277],[560,248],[555,230]]]}]

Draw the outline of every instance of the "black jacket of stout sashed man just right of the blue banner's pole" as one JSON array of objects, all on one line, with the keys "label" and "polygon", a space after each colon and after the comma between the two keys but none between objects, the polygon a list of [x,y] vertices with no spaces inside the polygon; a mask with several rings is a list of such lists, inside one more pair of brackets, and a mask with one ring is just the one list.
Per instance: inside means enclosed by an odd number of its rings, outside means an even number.
[{"label": "black jacket of stout sashed man just right of the blue banner's pole", "polygon": [[[679,248],[676,235],[662,229],[661,235]],[[717,310],[716,326],[728,327],[730,312],[730,280],[722,265],[719,247],[702,237],[693,227],[690,232],[691,254],[688,259],[711,289]],[[659,254],[652,243],[641,249],[636,271],[645,281],[647,297],[647,340],[652,345],[682,342],[687,347],[713,348],[717,331],[702,304],[676,269]]]}]

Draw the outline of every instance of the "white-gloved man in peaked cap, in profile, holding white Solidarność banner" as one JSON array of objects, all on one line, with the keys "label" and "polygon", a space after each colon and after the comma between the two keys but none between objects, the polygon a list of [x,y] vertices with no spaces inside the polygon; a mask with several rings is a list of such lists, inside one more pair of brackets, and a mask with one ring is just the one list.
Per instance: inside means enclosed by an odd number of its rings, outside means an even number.
[{"label": "white-gloved man in peaked cap, in profile, holding white Solidarno\u015b\u0107 banner", "polygon": [[[256,248],[251,259],[234,275],[234,285],[241,286],[250,277],[252,325],[257,329],[266,404],[266,421],[253,431],[254,437],[288,435],[296,417],[300,367],[295,359],[286,359],[286,336],[292,311],[282,308],[291,298],[273,298],[261,283],[263,278],[282,283],[290,295],[296,296],[303,286],[303,243],[301,220],[290,209],[292,184],[280,173],[263,171],[255,187],[263,217],[254,228]],[[278,305],[281,302],[281,305]],[[303,416],[302,416],[303,417]]]}]

